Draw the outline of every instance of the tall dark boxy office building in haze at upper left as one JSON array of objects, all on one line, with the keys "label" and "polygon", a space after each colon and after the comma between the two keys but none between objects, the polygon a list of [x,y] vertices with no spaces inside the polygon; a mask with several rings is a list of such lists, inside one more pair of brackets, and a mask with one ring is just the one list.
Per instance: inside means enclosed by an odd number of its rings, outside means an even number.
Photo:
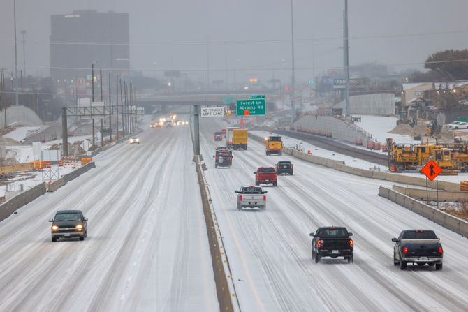
[{"label": "tall dark boxy office building in haze at upper left", "polygon": [[55,80],[91,79],[91,64],[128,75],[129,13],[75,10],[50,17],[50,75]]}]

